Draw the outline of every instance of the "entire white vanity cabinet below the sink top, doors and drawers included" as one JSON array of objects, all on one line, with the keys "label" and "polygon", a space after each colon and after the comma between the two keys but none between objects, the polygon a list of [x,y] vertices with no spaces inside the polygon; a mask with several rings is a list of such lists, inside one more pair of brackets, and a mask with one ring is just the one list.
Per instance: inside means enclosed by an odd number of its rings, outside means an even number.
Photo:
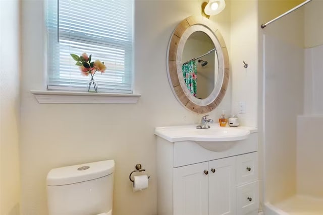
[{"label": "entire white vanity cabinet below the sink top, doors and drawers included", "polygon": [[256,132],[219,151],[156,138],[158,215],[258,214]]}]

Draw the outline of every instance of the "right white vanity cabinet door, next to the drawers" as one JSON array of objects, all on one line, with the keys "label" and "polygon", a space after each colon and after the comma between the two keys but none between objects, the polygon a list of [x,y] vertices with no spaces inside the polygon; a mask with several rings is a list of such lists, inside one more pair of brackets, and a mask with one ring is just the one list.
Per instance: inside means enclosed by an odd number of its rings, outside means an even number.
[{"label": "right white vanity cabinet door, next to the drawers", "polygon": [[236,214],[236,158],[208,164],[208,215]]}]

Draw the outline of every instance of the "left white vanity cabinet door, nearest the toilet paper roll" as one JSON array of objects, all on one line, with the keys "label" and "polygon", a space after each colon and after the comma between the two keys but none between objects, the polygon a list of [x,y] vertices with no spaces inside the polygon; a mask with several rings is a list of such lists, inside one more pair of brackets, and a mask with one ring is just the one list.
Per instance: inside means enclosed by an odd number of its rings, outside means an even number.
[{"label": "left white vanity cabinet door, nearest the toilet paper roll", "polygon": [[174,168],[174,215],[208,215],[207,169],[207,162]]}]

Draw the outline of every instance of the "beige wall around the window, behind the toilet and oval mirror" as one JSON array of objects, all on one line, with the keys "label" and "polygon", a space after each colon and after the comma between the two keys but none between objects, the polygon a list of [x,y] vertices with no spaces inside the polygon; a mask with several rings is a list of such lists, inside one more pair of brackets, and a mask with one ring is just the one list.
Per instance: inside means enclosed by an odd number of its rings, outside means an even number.
[{"label": "beige wall around the window, behind the toilet and oval mirror", "polygon": [[[166,53],[176,25],[200,15],[203,1],[135,1],[136,105],[38,104],[30,90],[44,88],[44,24],[42,1],[22,2],[21,178],[22,214],[45,215],[47,172],[56,167],[114,159],[114,214],[156,213],[154,127],[198,123],[173,95],[166,71]],[[230,3],[228,3],[230,5]],[[212,17],[230,47],[230,7]],[[230,49],[229,49],[230,52]],[[35,62],[36,66],[31,66]],[[217,120],[231,107],[231,90]],[[151,176],[149,189],[133,193],[129,173],[141,163]]]}]

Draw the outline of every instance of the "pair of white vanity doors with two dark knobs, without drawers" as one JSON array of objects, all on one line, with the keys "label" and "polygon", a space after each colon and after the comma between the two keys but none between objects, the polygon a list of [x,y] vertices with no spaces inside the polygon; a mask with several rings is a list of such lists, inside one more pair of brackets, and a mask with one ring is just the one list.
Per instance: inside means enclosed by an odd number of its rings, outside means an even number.
[{"label": "pair of white vanity doors with two dark knobs, without drawers", "polygon": [[174,168],[174,214],[235,214],[235,159]]}]

